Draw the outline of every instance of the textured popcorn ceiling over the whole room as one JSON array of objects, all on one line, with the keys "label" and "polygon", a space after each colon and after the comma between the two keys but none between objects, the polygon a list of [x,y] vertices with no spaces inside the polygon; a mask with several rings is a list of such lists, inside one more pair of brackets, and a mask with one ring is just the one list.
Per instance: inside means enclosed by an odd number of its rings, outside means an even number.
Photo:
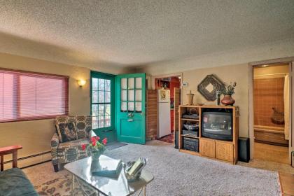
[{"label": "textured popcorn ceiling over the whole room", "polygon": [[293,38],[294,1],[0,0],[0,52],[137,66]]}]

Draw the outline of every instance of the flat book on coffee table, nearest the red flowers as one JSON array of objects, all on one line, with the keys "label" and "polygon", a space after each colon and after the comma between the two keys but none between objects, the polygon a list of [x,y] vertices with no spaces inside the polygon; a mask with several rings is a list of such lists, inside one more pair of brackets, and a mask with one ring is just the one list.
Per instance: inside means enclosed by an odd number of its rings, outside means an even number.
[{"label": "flat book on coffee table, nearest the red flowers", "polygon": [[121,160],[112,159],[104,155],[101,155],[99,160],[93,161],[91,164],[93,175],[109,178],[117,178],[122,168],[123,163]]}]

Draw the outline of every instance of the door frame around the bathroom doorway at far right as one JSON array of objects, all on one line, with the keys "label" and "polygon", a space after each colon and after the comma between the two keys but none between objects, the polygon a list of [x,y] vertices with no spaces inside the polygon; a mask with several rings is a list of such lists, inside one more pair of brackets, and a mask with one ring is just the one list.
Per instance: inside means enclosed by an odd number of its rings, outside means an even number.
[{"label": "door frame around the bathroom doorway at far right", "polygon": [[[259,66],[262,64],[279,64],[285,63],[289,64],[289,73],[290,73],[290,132],[289,132],[289,163],[291,162],[291,151],[294,151],[294,132],[293,125],[294,122],[294,85],[293,85],[293,76],[294,69],[292,69],[292,65],[294,65],[294,57],[281,58],[281,59],[271,59],[260,62],[251,62],[248,64],[249,69],[249,138],[250,138],[250,159],[253,159],[254,155],[254,110],[253,110],[253,67]],[[294,163],[292,163],[294,164]]]}]

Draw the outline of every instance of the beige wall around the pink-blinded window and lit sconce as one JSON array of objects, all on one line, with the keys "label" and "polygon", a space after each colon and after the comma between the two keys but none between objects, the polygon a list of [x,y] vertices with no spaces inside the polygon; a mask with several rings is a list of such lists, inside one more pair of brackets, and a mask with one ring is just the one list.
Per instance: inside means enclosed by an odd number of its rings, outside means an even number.
[{"label": "beige wall around the pink-blinded window and lit sconce", "polygon": [[[0,53],[0,68],[69,76],[69,113],[72,115],[90,113],[90,69],[3,53]],[[78,79],[87,80],[86,85],[79,87],[76,81]],[[20,158],[50,151],[50,140],[54,132],[52,119],[0,123],[0,147],[22,145]]]}]

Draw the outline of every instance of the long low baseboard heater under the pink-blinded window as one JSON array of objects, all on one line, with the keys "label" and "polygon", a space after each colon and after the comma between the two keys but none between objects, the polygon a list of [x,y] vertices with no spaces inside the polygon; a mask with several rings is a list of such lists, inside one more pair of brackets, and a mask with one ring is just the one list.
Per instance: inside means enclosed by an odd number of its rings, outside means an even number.
[{"label": "long low baseboard heater under the pink-blinded window", "polygon": [[[51,160],[51,151],[29,155],[27,157],[18,158],[18,167],[22,169],[25,167],[37,165],[42,162],[47,162],[49,160]],[[4,166],[10,168],[12,162],[13,160],[5,161]]]}]

